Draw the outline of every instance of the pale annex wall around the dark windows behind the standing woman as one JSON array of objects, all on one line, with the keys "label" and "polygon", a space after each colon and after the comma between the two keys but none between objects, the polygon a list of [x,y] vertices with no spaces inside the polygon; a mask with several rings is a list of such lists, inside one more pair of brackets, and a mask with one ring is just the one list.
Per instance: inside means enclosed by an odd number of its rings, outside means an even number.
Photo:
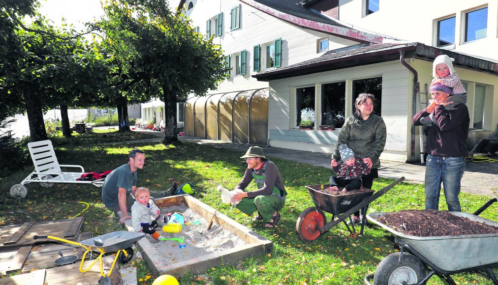
[{"label": "pale annex wall around the dark windows behind the standing woman", "polygon": [[[295,88],[331,82],[346,81],[346,116],[351,115],[352,81],[369,77],[382,77],[382,118],[387,127],[385,151],[381,159],[404,162],[407,159],[409,131],[407,114],[411,114],[410,90],[412,84],[408,70],[399,61],[372,64],[298,76],[270,82],[269,142],[271,146],[300,150],[331,152],[337,142],[339,130],[299,130],[295,125]],[[315,88],[317,90],[317,88]],[[317,98],[319,94],[316,94]],[[315,99],[316,101],[316,99]],[[315,109],[320,109],[316,106]]]}]

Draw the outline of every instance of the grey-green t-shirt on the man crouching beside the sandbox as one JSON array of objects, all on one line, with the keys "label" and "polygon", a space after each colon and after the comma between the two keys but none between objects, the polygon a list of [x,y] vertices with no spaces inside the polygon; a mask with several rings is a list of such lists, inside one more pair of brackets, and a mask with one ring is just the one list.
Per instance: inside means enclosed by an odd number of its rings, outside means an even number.
[{"label": "grey-green t-shirt on the man crouching beside the sandbox", "polygon": [[126,189],[126,194],[131,193],[131,188],[136,186],[136,171],[131,173],[129,164],[124,164],[111,172],[102,185],[102,201],[108,208],[119,206],[119,188]]}]

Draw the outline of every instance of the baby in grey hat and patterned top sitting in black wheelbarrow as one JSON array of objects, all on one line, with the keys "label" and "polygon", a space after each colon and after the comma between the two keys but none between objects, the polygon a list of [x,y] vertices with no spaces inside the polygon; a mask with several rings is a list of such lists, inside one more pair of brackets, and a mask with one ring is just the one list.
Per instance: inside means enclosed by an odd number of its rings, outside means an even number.
[{"label": "baby in grey hat and patterned top sitting in black wheelbarrow", "polygon": [[330,166],[337,177],[331,176],[329,190],[339,191],[342,188],[343,192],[360,189],[362,187],[362,176],[370,173],[368,161],[366,158],[363,161],[360,158],[355,158],[355,153],[347,145],[339,146],[339,154],[343,162],[331,162]]}]

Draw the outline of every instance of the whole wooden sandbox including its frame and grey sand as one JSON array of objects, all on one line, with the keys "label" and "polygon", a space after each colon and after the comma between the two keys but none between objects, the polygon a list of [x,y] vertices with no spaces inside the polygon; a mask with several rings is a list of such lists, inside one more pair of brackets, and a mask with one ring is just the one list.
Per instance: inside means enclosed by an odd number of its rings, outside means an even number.
[{"label": "whole wooden sandbox including its frame and grey sand", "polygon": [[[220,264],[236,264],[248,257],[269,252],[272,242],[239,224],[226,215],[216,212],[209,230],[206,230],[215,209],[190,195],[176,195],[154,199],[161,209],[161,217],[167,212],[178,212],[186,221],[199,220],[198,225],[184,225],[180,233],[163,233],[162,221],[156,229],[167,238],[185,237],[178,241],[157,241],[150,236],[140,239],[136,245],[155,277],[169,274],[176,277],[185,274],[202,274]],[[133,231],[131,220],[125,227]],[[180,245],[185,246],[180,248]]]}]

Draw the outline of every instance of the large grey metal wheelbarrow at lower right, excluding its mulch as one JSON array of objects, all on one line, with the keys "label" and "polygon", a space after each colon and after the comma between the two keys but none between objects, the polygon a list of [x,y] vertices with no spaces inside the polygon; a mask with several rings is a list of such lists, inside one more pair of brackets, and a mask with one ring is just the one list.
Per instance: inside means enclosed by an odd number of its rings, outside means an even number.
[{"label": "large grey metal wheelbarrow at lower right, excluding its mulch", "polygon": [[[498,223],[479,217],[479,214],[491,204],[493,198],[479,208],[474,214],[450,212],[480,223],[498,227]],[[498,233],[419,237],[398,232],[377,221],[386,213],[370,213],[369,221],[384,228],[395,236],[394,242],[400,252],[386,256],[377,266],[375,273],[365,277],[365,283],[372,285],[422,285],[434,274],[456,285],[451,275],[463,272],[477,272],[491,279],[498,285],[493,268],[498,267]],[[405,252],[405,250],[407,252]],[[426,268],[430,269],[427,273]]]}]

